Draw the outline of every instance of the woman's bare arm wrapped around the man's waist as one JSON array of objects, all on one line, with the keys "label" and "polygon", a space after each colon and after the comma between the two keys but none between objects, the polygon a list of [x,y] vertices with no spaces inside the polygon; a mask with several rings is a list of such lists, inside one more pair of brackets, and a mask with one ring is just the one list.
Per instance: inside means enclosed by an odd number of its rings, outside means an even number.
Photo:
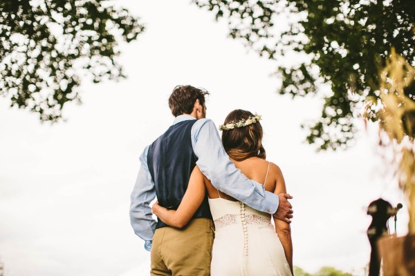
[{"label": "woman's bare arm wrapped around the man's waist", "polygon": [[201,206],[203,198],[205,198],[205,183],[201,170],[196,166],[190,175],[189,185],[177,210],[166,210],[156,203],[153,205],[153,213],[165,224],[183,228]]}]

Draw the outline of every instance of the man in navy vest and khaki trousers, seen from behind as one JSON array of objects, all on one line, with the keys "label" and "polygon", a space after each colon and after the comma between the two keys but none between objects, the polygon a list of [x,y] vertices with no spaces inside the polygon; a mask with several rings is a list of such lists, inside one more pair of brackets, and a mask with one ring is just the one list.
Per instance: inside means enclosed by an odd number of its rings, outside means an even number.
[{"label": "man in navy vest and khaki trousers, seen from behind", "polygon": [[275,195],[235,168],[221,144],[216,126],[205,119],[205,95],[192,86],[177,86],[169,97],[176,119],[140,156],[140,171],[131,193],[130,218],[134,232],[151,250],[151,275],[210,275],[213,222],[207,195],[183,229],[154,221],[150,202],[176,209],[197,165],[223,193],[291,222],[290,195]]}]

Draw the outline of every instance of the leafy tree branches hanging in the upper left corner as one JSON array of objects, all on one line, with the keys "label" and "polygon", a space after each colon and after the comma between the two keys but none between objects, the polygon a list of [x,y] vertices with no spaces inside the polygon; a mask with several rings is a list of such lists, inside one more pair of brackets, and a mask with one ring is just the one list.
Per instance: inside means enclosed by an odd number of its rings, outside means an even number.
[{"label": "leafy tree branches hanging in the upper left corner", "polygon": [[65,103],[80,100],[82,77],[124,77],[118,44],[142,30],[128,10],[104,0],[0,1],[0,95],[57,121]]}]

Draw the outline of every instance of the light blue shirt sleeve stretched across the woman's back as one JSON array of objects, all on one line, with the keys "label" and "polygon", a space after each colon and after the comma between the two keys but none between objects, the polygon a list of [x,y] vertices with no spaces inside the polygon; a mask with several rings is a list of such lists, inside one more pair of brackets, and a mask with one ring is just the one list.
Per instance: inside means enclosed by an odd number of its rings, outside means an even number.
[{"label": "light blue shirt sleeve stretched across the woman's back", "polygon": [[212,120],[196,121],[192,127],[192,146],[198,157],[197,166],[215,188],[261,212],[273,214],[277,211],[278,196],[248,179],[234,166]]}]

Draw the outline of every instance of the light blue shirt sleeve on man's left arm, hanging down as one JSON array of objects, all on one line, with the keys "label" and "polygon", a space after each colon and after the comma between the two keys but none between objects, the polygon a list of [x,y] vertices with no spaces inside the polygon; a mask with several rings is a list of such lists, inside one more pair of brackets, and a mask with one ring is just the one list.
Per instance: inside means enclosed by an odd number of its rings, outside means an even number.
[{"label": "light blue shirt sleeve on man's left arm, hanging down", "polygon": [[145,249],[151,250],[151,241],[156,230],[156,221],[151,213],[150,202],[156,197],[154,181],[147,165],[148,147],[140,156],[140,170],[131,193],[130,222],[134,233],[145,241]]}]

